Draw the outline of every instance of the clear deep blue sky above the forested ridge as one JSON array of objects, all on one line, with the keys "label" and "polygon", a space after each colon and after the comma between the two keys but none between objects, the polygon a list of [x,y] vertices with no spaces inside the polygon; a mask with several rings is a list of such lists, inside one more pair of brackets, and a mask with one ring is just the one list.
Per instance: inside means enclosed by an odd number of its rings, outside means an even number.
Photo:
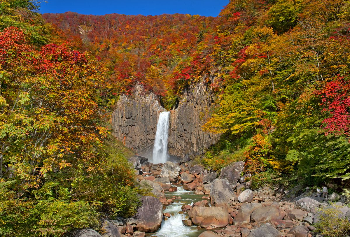
[{"label": "clear deep blue sky above the forested ridge", "polygon": [[217,16],[229,0],[47,0],[42,2],[40,13],[77,12],[104,15],[160,15],[183,13],[201,16]]}]

